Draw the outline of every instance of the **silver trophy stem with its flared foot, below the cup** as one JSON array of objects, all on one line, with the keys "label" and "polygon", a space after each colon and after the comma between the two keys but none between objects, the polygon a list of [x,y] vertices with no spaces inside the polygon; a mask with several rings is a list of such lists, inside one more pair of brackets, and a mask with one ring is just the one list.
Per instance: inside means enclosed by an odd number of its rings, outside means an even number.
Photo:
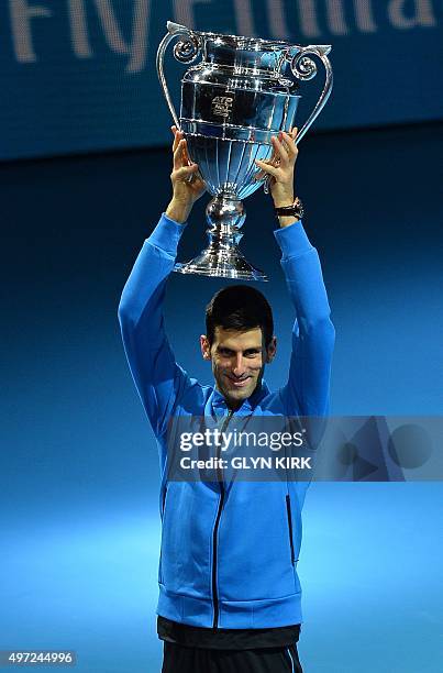
[{"label": "silver trophy stem with its flared foot, below the cup", "polygon": [[175,272],[239,278],[241,280],[267,280],[267,276],[250,264],[239,249],[243,236],[241,228],[246,211],[234,194],[220,192],[208,203],[207,230],[209,245],[190,262],[176,264]]}]

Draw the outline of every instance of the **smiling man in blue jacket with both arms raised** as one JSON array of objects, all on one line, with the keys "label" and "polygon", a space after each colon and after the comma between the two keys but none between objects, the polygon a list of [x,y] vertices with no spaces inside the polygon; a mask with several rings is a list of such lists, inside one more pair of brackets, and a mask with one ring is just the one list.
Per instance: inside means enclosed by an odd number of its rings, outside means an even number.
[{"label": "smiling man in blue jacket with both arms raised", "polygon": [[[163,320],[165,286],[177,244],[204,184],[173,126],[173,198],[145,241],[119,308],[129,364],[157,438],[162,550],[157,630],[163,672],[279,673],[301,671],[297,641],[301,591],[297,562],[306,483],[230,484],[167,479],[171,418],[190,415],[323,416],[328,412],[334,328],[320,262],[297,207],[277,210],[275,238],[295,307],[288,380],[272,393],[263,380],[276,354],[273,316],[251,286],[228,286],[207,309],[201,353],[214,386],[201,386],[175,362]],[[276,209],[292,207],[297,129],[273,139],[269,162]],[[185,282],[185,280],[184,280]]]}]

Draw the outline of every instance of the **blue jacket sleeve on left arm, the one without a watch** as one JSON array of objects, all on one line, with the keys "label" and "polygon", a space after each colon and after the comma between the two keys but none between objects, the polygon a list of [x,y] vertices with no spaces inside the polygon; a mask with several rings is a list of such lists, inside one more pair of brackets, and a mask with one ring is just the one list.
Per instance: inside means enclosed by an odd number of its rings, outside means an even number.
[{"label": "blue jacket sleeve on left arm, the one without a watch", "polygon": [[188,375],[175,361],[163,316],[166,283],[184,229],[162,216],[143,244],[119,305],[128,362],[157,438],[166,432],[177,398],[190,385]]}]

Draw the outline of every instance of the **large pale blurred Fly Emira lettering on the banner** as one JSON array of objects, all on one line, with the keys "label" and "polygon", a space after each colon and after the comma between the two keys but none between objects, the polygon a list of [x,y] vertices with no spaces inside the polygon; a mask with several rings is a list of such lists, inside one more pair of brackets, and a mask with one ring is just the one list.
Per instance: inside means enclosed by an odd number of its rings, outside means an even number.
[{"label": "large pale blurred Fly Emira lettering on the banner", "polygon": [[[296,2],[296,25],[288,20],[289,2]],[[34,2],[34,3],[32,3]],[[351,32],[376,33],[375,0],[266,0],[269,31],[273,37],[297,42],[328,41],[331,35],[347,35]],[[210,4],[211,0],[173,0],[174,16],[179,23],[195,26],[195,5]],[[146,67],[148,30],[152,0],[132,0],[131,35],[125,37],[117,14],[122,4],[117,0],[57,0],[57,11],[63,4],[69,21],[71,48],[77,58],[93,57],[93,42],[89,35],[88,8],[98,15],[108,47],[115,54],[128,56],[126,73],[140,73]],[[128,3],[130,4],[130,3]],[[19,63],[38,60],[34,49],[33,31],[38,30],[34,19],[51,19],[49,0],[9,0],[12,44]],[[128,5],[126,5],[128,7]],[[243,35],[255,35],[252,0],[233,0],[234,22],[232,31]],[[438,25],[432,0],[388,0],[384,4],[385,23],[396,30],[429,29]],[[125,9],[125,12],[131,11]],[[347,11],[347,14],[346,14]],[[378,21],[383,21],[380,10]]]}]

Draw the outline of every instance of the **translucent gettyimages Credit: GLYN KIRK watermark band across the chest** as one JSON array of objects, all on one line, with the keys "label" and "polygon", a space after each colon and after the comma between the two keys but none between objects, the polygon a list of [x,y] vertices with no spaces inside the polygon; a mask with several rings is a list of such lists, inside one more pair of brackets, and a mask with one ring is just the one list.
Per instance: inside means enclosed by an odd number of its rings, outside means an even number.
[{"label": "translucent gettyimages Credit: GLYN KIRK watermark band across the chest", "polygon": [[170,481],[443,481],[443,417],[171,419]]}]

